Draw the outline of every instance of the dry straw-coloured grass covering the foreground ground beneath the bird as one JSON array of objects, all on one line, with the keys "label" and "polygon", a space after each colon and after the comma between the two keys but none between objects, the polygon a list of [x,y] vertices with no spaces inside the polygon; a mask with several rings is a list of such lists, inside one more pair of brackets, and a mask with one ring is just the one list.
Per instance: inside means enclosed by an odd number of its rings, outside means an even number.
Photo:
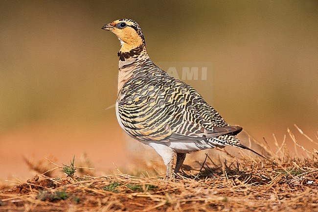
[{"label": "dry straw-coloured grass covering the foreground ground beneath the bird", "polygon": [[[275,164],[248,155],[224,163],[206,156],[198,171],[184,166],[181,175],[170,181],[122,173],[65,178],[36,175],[26,183],[1,189],[0,212],[318,211],[317,150],[304,149],[288,132],[295,148],[306,157],[293,157],[285,141],[276,141],[275,148],[264,146]],[[54,169],[61,168],[56,165]]]}]

